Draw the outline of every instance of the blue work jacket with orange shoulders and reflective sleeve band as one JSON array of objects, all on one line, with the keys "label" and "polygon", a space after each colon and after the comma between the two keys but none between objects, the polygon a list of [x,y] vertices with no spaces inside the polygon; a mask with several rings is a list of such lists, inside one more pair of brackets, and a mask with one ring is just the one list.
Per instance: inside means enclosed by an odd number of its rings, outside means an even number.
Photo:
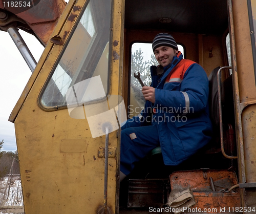
[{"label": "blue work jacket with orange shoulders and reflective sleeve band", "polygon": [[156,70],[151,67],[156,101],[146,101],[135,116],[140,119],[134,118],[129,126],[156,124],[165,165],[178,165],[211,139],[208,78],[198,63],[183,59],[181,52],[162,76]]}]

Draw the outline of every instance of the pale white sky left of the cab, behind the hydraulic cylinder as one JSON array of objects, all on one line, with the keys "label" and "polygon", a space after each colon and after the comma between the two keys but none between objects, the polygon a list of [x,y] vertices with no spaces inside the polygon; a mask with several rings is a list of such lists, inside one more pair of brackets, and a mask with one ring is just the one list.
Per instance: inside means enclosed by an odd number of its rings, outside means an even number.
[{"label": "pale white sky left of the cab, behind the hydraulic cylinder", "polygon": [[[22,30],[19,33],[38,62],[44,47],[34,36]],[[0,74],[0,141],[4,140],[1,151],[15,152],[14,123],[8,118],[32,72],[8,32],[4,31],[0,31]]]}]

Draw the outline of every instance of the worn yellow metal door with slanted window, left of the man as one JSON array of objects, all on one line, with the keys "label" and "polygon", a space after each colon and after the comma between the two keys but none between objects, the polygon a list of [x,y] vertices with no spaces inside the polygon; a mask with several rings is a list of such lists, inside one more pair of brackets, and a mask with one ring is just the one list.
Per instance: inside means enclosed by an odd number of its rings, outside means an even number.
[{"label": "worn yellow metal door with slanted window, left of the man", "polygon": [[70,1],[10,116],[27,214],[115,213],[122,10]]}]

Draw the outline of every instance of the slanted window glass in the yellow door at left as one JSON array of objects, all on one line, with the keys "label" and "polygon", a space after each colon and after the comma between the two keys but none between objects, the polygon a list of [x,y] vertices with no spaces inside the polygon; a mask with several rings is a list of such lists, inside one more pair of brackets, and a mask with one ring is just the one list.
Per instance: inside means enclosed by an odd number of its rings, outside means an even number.
[{"label": "slanted window glass in the yellow door at left", "polygon": [[72,85],[100,76],[108,93],[111,1],[91,0],[41,96],[44,106],[66,105]]}]

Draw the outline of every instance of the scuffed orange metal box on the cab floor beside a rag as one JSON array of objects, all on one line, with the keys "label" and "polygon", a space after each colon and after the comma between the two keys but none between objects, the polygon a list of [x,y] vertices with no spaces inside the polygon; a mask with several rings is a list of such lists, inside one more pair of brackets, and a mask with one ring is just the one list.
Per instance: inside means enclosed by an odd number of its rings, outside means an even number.
[{"label": "scuffed orange metal box on the cab floor beside a rag", "polygon": [[190,187],[196,204],[189,207],[194,211],[201,209],[204,213],[232,213],[233,207],[240,207],[239,188],[236,174],[230,170],[191,170],[174,172],[170,175],[171,189]]}]

